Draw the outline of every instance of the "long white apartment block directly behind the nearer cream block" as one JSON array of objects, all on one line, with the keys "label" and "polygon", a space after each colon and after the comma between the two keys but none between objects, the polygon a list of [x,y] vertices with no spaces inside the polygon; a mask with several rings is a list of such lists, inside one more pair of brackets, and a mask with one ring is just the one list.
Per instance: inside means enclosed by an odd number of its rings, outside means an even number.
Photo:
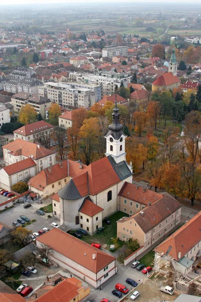
[{"label": "long white apartment block directly behind the nearer cream block", "polygon": [[95,75],[90,73],[70,72],[69,79],[81,84],[93,84],[101,87],[102,97],[104,95],[113,95],[115,93],[116,85],[120,87],[121,83],[127,87],[131,82],[130,73],[118,73],[111,71],[103,71],[102,75]]}]

